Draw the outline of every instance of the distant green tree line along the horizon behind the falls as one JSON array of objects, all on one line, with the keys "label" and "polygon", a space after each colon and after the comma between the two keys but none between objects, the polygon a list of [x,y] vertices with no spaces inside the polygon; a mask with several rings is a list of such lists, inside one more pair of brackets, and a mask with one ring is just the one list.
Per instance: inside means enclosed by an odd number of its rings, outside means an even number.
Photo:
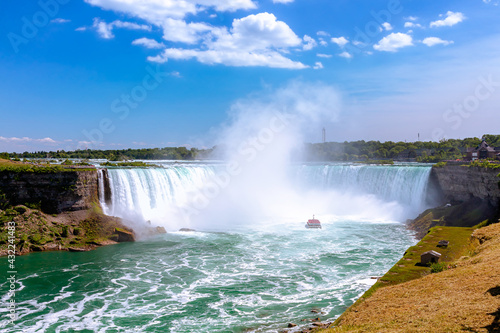
[{"label": "distant green tree line along the horizon behind the falls", "polygon": [[[414,159],[418,162],[439,162],[462,159],[468,148],[477,147],[482,140],[492,147],[500,146],[500,135],[484,135],[480,138],[448,139],[435,141],[393,142],[393,141],[345,141],[308,143],[304,145],[301,160],[306,161],[365,161]],[[38,151],[24,153],[0,153],[0,158],[55,158],[55,159],[106,159],[127,160],[194,160],[217,158],[223,147],[197,149],[166,147],[123,150],[75,150]],[[217,153],[219,152],[219,153]]]}]

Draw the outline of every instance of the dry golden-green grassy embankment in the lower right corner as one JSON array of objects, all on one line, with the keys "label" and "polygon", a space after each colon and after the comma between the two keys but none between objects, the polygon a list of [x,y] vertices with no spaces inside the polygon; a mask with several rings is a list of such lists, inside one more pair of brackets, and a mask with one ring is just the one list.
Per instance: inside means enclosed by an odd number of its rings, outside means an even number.
[{"label": "dry golden-green grassy embankment in the lower right corner", "polygon": [[[450,245],[437,247],[441,239]],[[444,264],[416,266],[428,250]],[[335,327],[320,332],[499,332],[499,295],[500,224],[435,227]]]}]

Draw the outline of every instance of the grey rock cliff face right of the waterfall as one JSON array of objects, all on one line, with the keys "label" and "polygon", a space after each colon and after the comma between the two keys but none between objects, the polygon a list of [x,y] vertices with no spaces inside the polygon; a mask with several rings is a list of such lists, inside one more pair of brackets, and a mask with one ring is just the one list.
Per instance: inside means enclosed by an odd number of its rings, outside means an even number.
[{"label": "grey rock cliff face right of the waterfall", "polygon": [[464,165],[432,168],[431,177],[438,183],[448,202],[461,203],[471,199],[487,200],[498,206],[500,200],[500,170]]}]

